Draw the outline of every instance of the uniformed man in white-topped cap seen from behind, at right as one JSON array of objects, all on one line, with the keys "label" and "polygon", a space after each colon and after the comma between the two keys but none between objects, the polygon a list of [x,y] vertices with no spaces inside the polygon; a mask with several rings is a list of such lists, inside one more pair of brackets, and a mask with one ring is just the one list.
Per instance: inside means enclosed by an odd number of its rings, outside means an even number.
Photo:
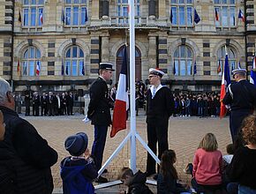
[{"label": "uniformed man in white-topped cap seen from behind, at right", "polygon": [[[256,108],[256,88],[246,80],[246,70],[232,71],[236,83],[228,86],[228,91],[223,99],[225,105],[230,105],[230,133],[233,143],[241,145],[239,131],[244,118],[252,114]],[[239,140],[240,139],[240,140]]]}]

